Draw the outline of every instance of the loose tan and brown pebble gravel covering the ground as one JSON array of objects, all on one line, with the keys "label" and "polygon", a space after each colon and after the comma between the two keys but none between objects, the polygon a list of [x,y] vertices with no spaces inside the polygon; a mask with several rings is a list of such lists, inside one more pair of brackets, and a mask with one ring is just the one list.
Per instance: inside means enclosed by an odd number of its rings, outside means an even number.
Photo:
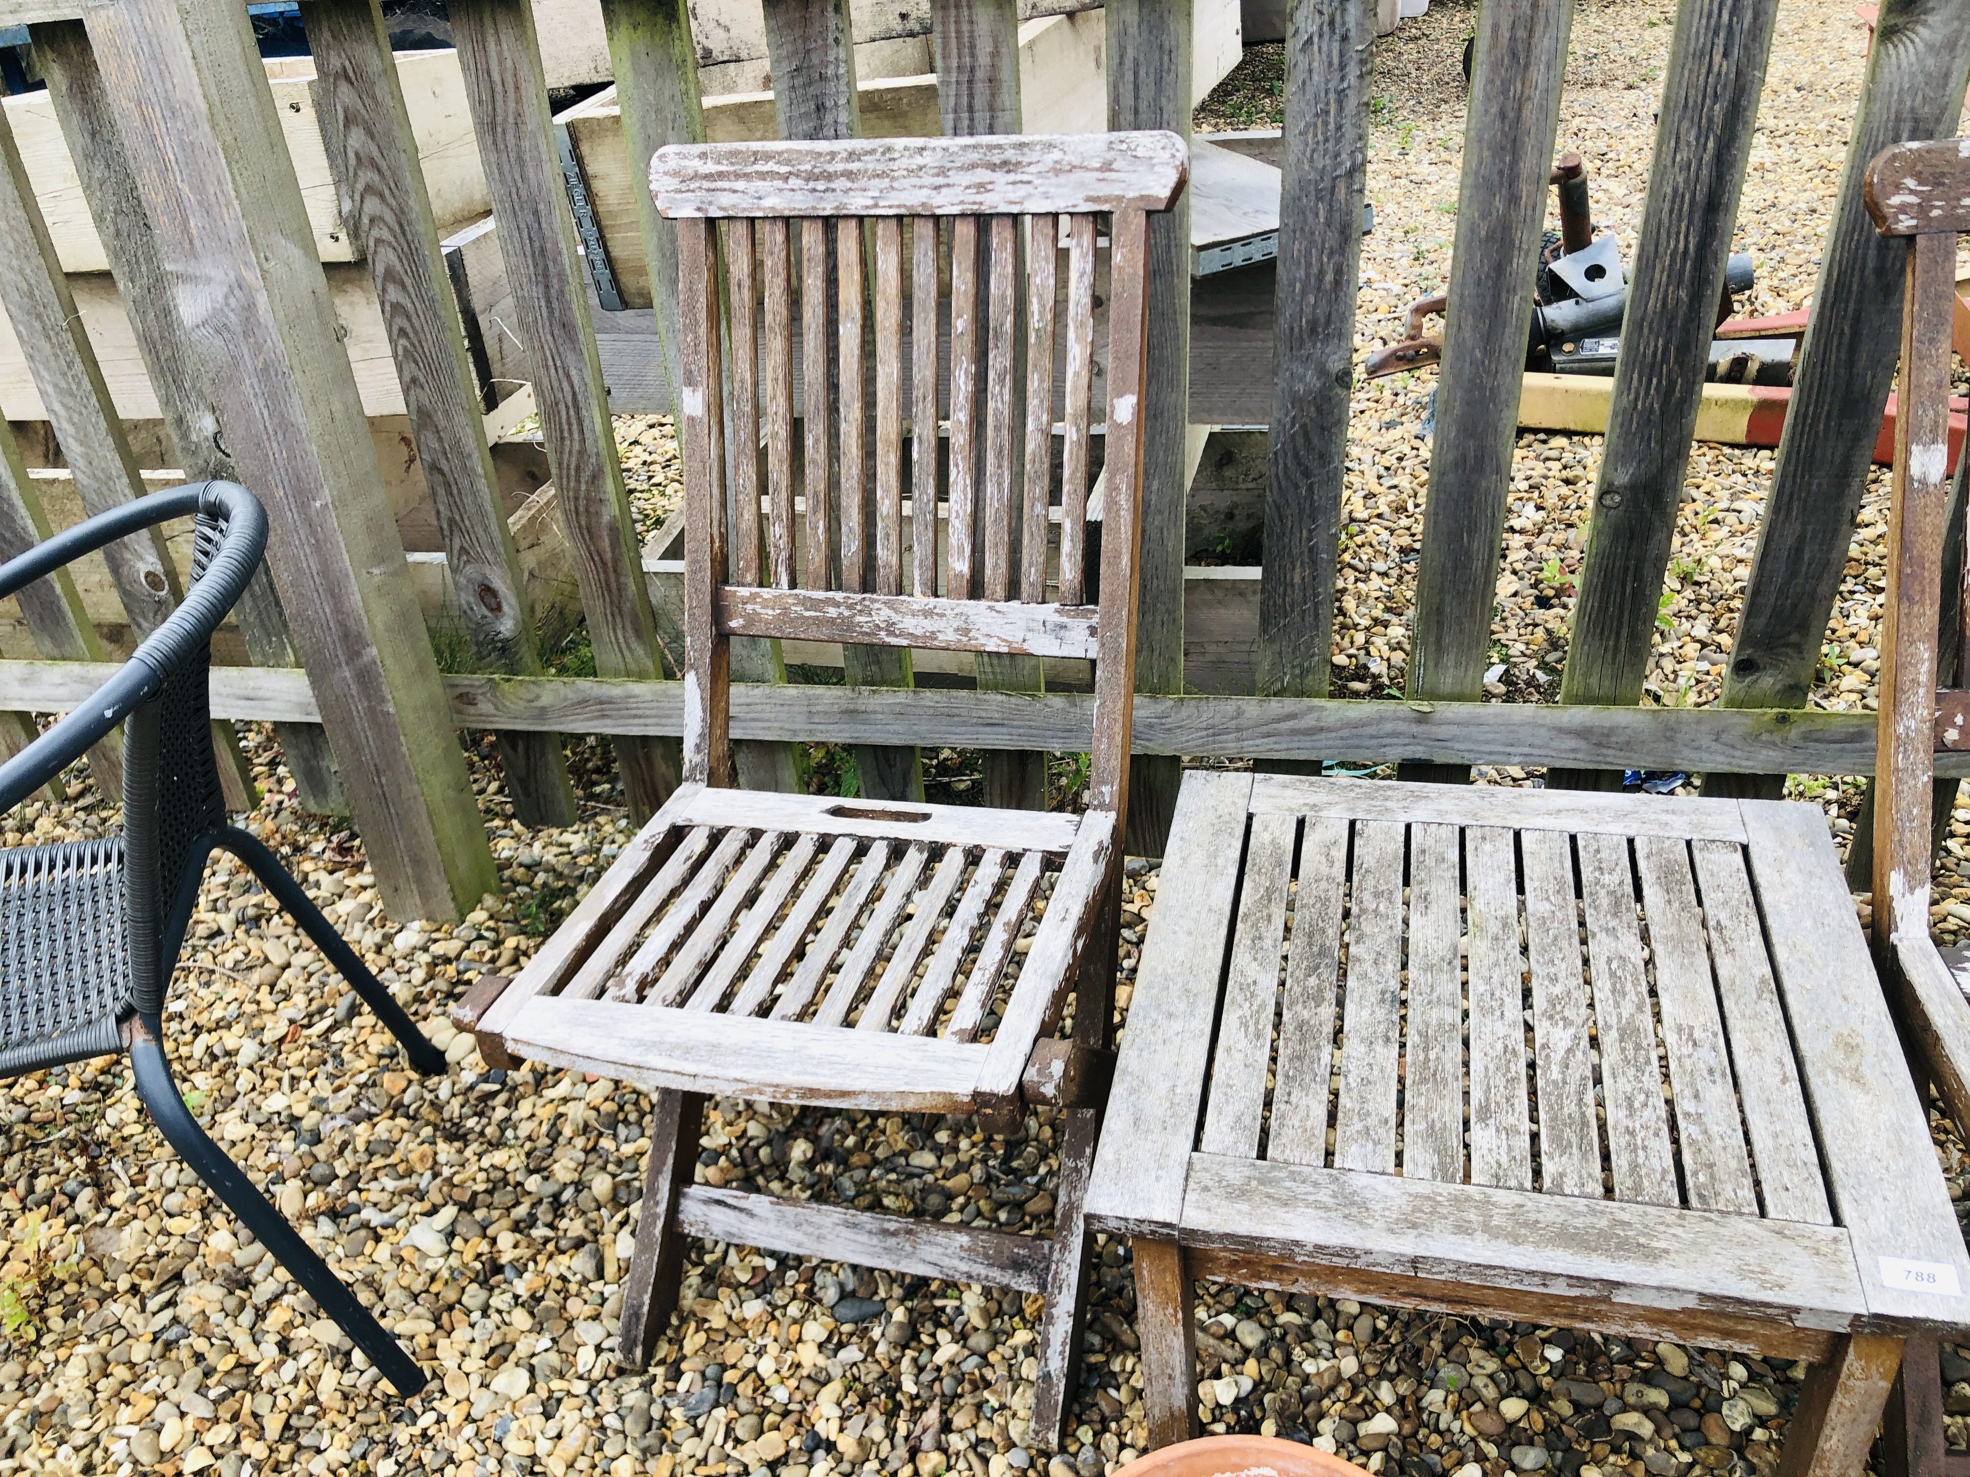
[{"label": "loose tan and brown pebble gravel covering the ground", "polygon": [[[1381,45],[1365,242],[1363,353],[1401,333],[1407,301],[1438,286],[1456,209],[1462,81],[1474,4],[1438,0]],[[1582,4],[1562,148],[1594,169],[1602,223],[1633,250],[1665,4]],[[1265,126],[1277,47],[1200,110],[1200,126]],[[1812,286],[1864,32],[1844,6],[1787,4],[1740,244],[1759,254],[1743,311],[1797,307]],[[1271,65],[1271,77],[1267,67]],[[1401,685],[1412,555],[1426,498],[1414,437],[1434,374],[1363,386],[1349,475],[1338,677],[1355,693]],[[638,522],[678,496],[668,425],[623,417]],[[1495,697],[1550,697],[1564,664],[1598,437],[1519,441],[1499,585]],[[1698,447],[1674,547],[1674,601],[1651,691],[1716,695],[1769,453]],[[1885,479],[1856,532],[1824,707],[1873,705]],[[384,981],[431,1022],[453,1067],[402,1071],[390,1038],[250,876],[215,867],[167,1016],[187,1101],[256,1184],[441,1382],[410,1404],[179,1166],[144,1121],[120,1061],[12,1083],[0,1211],[0,1473],[162,1469],[223,1477],[329,1471],[398,1477],[546,1469],[552,1477],[845,1477],[916,1473],[1093,1477],[1145,1444],[1125,1245],[1103,1245],[1087,1382],[1068,1449],[1028,1445],[1038,1300],[885,1270],[699,1245],[684,1316],[648,1375],[617,1377],[611,1347],[640,1195],[648,1101],[609,1081],[487,1071],[443,1010],[481,971],[522,963],[628,837],[587,803],[567,831],[510,819],[496,768],[475,756],[504,892],[457,928],[384,920],[361,841],[301,815],[266,731],[246,733],[268,800],[250,819],[331,906]],[[609,792],[607,748],[573,746],[583,796]],[[1497,772],[1497,782],[1527,782]],[[69,802],[0,817],[0,845],[98,835],[118,817],[87,778]],[[1836,835],[1856,792],[1805,780]],[[1938,868],[1938,933],[1970,924],[1970,809]],[[1133,924],[1152,914],[1154,868],[1133,867]],[[1960,910],[1960,916],[1950,914]],[[1135,947],[1119,1006],[1127,1010]],[[821,1117],[717,1101],[699,1178],[831,1193],[894,1211],[1050,1229],[1054,1128],[1032,1117],[991,1138],[965,1119]],[[1962,1203],[1970,1168],[1940,1124],[1938,1158]],[[1799,1371],[1745,1353],[1627,1345],[1353,1302],[1206,1286],[1200,1386],[1210,1430],[1263,1430],[1338,1449],[1369,1471],[1497,1477],[1558,1469],[1767,1473]],[[1970,1412],[1970,1361],[1944,1351],[1950,1406]],[[1952,1440],[1964,1440],[1952,1416]]]}]

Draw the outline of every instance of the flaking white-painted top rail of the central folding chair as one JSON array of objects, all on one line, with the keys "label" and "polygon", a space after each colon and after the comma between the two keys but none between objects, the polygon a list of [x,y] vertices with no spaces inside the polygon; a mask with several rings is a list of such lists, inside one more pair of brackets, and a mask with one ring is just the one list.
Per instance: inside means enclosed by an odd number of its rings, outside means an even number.
[{"label": "flaking white-painted top rail of the central folding chair", "polygon": [[1190,175],[1170,132],[672,144],[650,160],[666,217],[1162,211]]}]

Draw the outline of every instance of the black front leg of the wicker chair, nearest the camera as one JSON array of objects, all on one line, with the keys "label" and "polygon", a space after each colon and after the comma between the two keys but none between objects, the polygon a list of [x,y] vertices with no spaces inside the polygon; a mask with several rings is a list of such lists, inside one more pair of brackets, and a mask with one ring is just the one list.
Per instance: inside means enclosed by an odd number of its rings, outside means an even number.
[{"label": "black front leg of the wicker chair, nearest the camera", "polygon": [[286,1266],[294,1280],[301,1284],[323,1314],[335,1319],[355,1345],[370,1357],[384,1379],[396,1386],[406,1400],[426,1386],[426,1375],[416,1361],[370,1317],[357,1296],[345,1288],[327,1264],[301,1241],[299,1231],[282,1219],[280,1211],[266,1203],[266,1197],[252,1188],[240,1168],[215,1144],[191,1117],[185,1099],[171,1079],[171,1067],[164,1060],[164,1042],[156,1020],[132,1016],[124,1026],[124,1042],[130,1048],[130,1067],[136,1073],[136,1091],[144,1099],[152,1121],[165,1140],[211,1186],[213,1193],[252,1229],[254,1237],[274,1252],[274,1260]]}]

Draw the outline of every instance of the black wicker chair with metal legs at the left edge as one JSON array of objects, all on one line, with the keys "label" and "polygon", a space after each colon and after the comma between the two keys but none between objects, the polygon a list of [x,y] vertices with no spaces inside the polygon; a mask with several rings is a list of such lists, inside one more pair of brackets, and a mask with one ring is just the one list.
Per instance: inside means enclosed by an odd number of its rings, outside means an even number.
[{"label": "black wicker chair with metal legs at the left edge", "polygon": [[368,1002],[412,1065],[445,1069],[443,1052],[362,967],[274,853],[227,823],[207,693],[211,638],[260,567],[266,512],[234,482],[156,492],[0,565],[0,599],[104,544],[185,516],[197,518],[197,546],[183,605],[89,703],[0,764],[4,813],[124,725],[122,835],[0,851],[0,1079],[128,1052],[138,1095],[171,1146],[410,1396],[424,1388],[424,1371],[199,1128],[164,1060],[165,989],[205,863],[225,849],[254,870]]}]

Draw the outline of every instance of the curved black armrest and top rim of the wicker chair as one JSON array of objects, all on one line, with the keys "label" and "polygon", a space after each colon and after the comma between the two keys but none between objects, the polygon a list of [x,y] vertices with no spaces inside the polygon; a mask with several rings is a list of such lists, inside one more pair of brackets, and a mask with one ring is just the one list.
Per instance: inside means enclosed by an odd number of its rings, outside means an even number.
[{"label": "curved black armrest and top rim of the wicker chair", "polygon": [[246,581],[260,567],[260,555],[266,551],[266,510],[238,482],[177,486],[87,518],[0,565],[0,599],[6,599],[104,544],[187,516],[209,516],[225,524],[219,547],[207,559],[201,577],[114,677],[0,764],[0,811],[12,809],[89,752],[91,744],[152,699],[191,652],[211,644],[219,622],[227,618]]}]

